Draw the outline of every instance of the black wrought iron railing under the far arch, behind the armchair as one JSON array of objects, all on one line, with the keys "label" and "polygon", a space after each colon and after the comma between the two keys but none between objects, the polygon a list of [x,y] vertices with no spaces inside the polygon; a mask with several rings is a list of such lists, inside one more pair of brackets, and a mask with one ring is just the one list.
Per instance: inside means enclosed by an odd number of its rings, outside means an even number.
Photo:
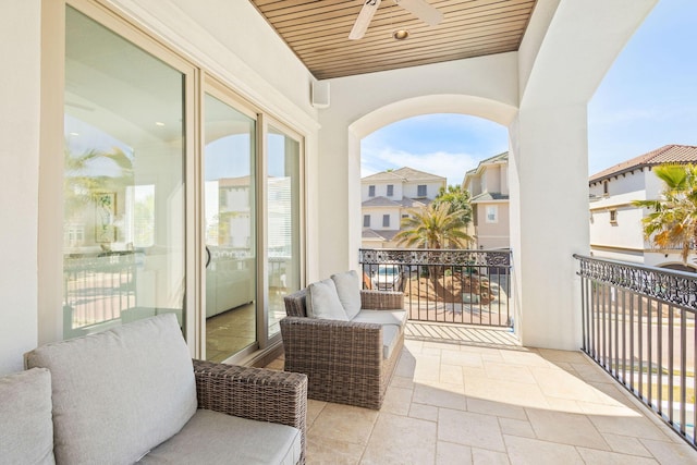
[{"label": "black wrought iron railing under the far arch, behind the armchair", "polygon": [[409,319],[512,327],[511,253],[362,248],[364,289],[404,292]]}]

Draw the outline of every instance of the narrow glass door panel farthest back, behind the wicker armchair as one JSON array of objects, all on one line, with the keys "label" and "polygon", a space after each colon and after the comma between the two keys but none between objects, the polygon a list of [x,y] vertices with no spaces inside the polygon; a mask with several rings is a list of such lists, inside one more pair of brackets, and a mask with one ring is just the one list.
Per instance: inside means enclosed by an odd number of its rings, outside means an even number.
[{"label": "narrow glass door panel farthest back, behind the wicker armchair", "polygon": [[273,126],[267,136],[268,308],[269,338],[285,316],[283,296],[301,285],[301,144]]}]

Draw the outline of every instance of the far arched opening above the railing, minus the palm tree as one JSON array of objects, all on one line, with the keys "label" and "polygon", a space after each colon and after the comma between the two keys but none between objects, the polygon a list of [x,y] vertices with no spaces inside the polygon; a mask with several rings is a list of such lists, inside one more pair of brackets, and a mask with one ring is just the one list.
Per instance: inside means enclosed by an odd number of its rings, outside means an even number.
[{"label": "far arched opening above the railing, minus the palm tree", "polygon": [[363,138],[362,247],[402,247],[403,222],[447,191],[469,200],[466,248],[509,248],[508,148],[506,127],[462,113],[407,118]]}]

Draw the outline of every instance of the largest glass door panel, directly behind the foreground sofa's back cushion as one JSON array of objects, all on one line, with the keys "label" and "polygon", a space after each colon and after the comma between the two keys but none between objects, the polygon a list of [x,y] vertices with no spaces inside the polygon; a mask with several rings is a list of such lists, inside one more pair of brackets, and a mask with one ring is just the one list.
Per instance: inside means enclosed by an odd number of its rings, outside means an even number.
[{"label": "largest glass door panel, directly behind the foreground sofa's back cushion", "polygon": [[68,7],[63,336],[184,311],[184,76]]}]

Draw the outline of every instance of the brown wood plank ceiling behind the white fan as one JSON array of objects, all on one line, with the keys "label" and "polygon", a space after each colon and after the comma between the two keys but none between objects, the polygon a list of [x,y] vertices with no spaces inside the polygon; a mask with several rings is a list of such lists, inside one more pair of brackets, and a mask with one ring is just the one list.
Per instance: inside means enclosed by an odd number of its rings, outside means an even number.
[{"label": "brown wood plank ceiling behind the white fan", "polygon": [[[231,0],[236,1],[236,0]],[[428,26],[382,0],[366,35],[348,40],[365,0],[249,0],[318,79],[517,50],[536,0],[427,0]],[[405,40],[392,34],[407,29]]]}]

